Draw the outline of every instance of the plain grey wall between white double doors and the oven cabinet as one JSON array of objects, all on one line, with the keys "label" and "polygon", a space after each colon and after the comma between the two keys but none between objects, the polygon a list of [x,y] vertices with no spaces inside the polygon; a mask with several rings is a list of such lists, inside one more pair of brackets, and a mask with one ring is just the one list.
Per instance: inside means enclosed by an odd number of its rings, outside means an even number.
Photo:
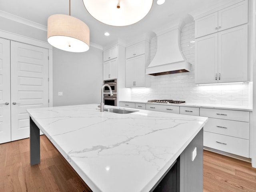
[{"label": "plain grey wall between white double doors and the oven cabinet", "polygon": [[[100,104],[102,50],[73,53],[53,49],[53,106]],[[63,92],[63,96],[58,96]]]}]

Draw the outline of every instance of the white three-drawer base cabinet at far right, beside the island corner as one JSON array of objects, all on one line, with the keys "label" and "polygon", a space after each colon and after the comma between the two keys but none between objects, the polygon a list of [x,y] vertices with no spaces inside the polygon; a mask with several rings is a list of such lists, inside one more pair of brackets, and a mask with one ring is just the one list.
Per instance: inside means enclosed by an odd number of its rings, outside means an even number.
[{"label": "white three-drawer base cabinet at far right, beside the island corner", "polygon": [[208,117],[204,146],[249,158],[249,112],[200,108]]}]

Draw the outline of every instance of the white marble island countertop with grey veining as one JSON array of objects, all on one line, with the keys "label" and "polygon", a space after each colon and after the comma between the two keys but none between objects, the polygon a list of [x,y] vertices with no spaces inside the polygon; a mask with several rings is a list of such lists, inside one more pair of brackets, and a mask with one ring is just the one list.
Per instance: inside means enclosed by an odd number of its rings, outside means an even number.
[{"label": "white marble island countertop with grey veining", "polygon": [[208,120],[148,110],[100,112],[97,106],[27,110],[94,192],[150,191]]}]

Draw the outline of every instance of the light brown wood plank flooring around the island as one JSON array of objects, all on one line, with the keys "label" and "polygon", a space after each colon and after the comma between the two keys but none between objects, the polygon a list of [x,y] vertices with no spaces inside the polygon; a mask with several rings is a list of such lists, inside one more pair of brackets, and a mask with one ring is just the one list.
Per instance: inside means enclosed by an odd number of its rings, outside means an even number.
[{"label": "light brown wood plank flooring around the island", "polygon": [[[0,144],[0,192],[91,192],[46,136],[41,163],[30,166],[29,139]],[[256,192],[256,169],[204,151],[204,192]]]}]

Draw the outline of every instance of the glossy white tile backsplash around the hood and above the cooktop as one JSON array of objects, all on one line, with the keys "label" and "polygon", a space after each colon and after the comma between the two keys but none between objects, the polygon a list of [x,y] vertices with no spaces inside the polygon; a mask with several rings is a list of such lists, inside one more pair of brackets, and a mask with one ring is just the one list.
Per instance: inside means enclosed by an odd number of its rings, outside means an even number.
[{"label": "glossy white tile backsplash around the hood and above the cooktop", "polygon": [[[132,88],[132,100],[174,99],[187,103],[248,106],[248,83],[200,85],[194,83],[194,22],[182,29],[181,46],[185,58],[192,64],[190,72],[150,76],[150,88]],[[150,44],[150,60],[157,49],[157,38]]]}]

